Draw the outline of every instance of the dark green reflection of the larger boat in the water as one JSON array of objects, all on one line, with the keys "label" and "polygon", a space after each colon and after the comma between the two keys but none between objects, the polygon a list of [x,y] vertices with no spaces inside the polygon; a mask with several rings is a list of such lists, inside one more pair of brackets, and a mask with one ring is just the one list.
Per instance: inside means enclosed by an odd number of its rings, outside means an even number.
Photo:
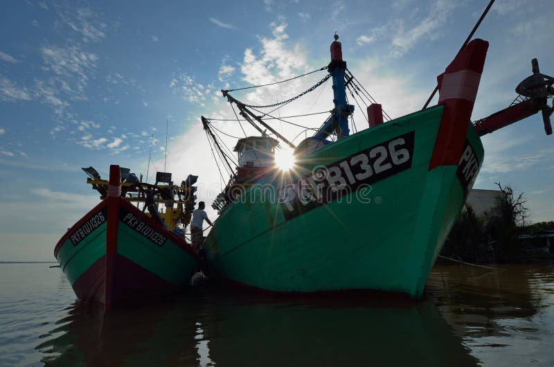
[{"label": "dark green reflection of the larger boat in the water", "polygon": [[[219,297],[219,296],[218,296]],[[199,312],[216,366],[476,366],[430,301],[229,296]]]}]

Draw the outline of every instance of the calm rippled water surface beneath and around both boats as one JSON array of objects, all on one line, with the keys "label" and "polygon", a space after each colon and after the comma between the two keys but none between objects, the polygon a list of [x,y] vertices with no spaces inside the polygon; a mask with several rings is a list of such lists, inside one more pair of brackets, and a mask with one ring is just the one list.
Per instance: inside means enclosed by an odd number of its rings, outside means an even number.
[{"label": "calm rippled water surface beneath and around both boats", "polygon": [[553,267],[439,265],[418,302],[202,283],[103,314],[60,269],[0,264],[0,366],[554,366]]}]

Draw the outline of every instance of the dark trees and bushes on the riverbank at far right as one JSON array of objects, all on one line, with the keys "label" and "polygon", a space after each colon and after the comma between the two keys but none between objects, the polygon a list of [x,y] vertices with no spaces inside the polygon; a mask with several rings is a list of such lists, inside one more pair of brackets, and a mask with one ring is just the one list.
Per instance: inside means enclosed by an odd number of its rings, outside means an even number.
[{"label": "dark trees and bushes on the riverbank at far right", "polygon": [[551,229],[554,222],[529,224],[524,193],[515,195],[510,186],[501,186],[494,206],[476,215],[466,204],[460,219],[449,233],[442,256],[467,262],[535,262],[554,260],[554,249],[546,238],[535,237]]}]

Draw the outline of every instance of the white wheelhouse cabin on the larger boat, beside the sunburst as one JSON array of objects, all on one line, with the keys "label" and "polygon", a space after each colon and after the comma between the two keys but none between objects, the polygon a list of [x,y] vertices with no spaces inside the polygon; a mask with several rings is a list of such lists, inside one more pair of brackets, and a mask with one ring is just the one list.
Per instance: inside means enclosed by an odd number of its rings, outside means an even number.
[{"label": "white wheelhouse cabin on the larger boat, beside the sunburst", "polygon": [[249,136],[237,142],[239,167],[271,167],[275,165],[275,147],[278,141],[269,136]]}]

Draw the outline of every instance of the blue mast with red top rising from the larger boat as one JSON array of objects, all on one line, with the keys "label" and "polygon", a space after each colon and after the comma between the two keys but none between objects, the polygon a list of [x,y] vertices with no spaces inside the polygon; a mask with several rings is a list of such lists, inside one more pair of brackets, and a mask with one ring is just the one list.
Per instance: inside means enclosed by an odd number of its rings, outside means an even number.
[{"label": "blue mast with red top rising from the larger boat", "polygon": [[336,132],[338,138],[350,135],[348,116],[354,111],[354,106],[348,105],[346,101],[346,87],[344,84],[346,62],[342,60],[342,45],[337,39],[339,39],[339,36],[334,35],[334,42],[331,44],[331,62],[328,66],[328,71],[331,73],[333,80],[334,109],[332,118],[325,120],[323,127],[314,135],[318,138],[326,138],[332,132]]}]

